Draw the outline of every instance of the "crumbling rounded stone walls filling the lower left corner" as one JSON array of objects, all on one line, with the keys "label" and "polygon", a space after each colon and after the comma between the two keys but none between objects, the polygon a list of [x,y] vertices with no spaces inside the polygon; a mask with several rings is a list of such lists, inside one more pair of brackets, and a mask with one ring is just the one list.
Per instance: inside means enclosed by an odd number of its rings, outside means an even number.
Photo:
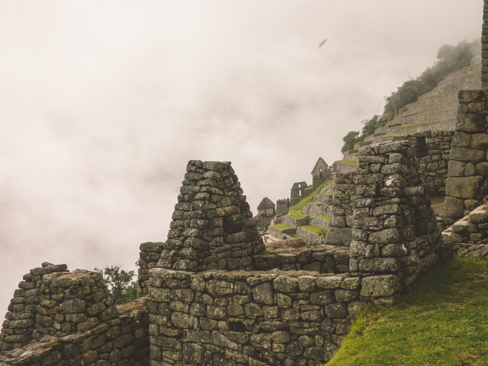
[{"label": "crumbling rounded stone walls filling the lower left corner", "polygon": [[0,333],[0,349],[7,351],[0,362],[148,366],[148,300],[117,308],[101,273],[43,263],[14,293]]}]

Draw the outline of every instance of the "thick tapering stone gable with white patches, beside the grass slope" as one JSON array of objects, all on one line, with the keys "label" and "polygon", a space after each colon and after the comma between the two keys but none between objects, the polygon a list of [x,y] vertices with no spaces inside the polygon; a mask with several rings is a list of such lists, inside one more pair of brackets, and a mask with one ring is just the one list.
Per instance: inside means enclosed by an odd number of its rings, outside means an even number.
[{"label": "thick tapering stone gable with white patches, beside the grass slope", "polygon": [[408,141],[360,148],[353,227],[349,266],[361,276],[410,285],[446,255]]}]

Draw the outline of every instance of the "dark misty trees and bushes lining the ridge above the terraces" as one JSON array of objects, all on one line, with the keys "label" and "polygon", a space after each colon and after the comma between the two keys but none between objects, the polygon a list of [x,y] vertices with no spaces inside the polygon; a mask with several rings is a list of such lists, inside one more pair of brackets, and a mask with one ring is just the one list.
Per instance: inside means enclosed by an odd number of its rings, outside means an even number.
[{"label": "dark misty trees and bushes lining the ridge above the terraces", "polygon": [[479,40],[473,42],[462,41],[456,46],[443,45],[437,52],[438,61],[434,66],[425,69],[415,79],[405,81],[395,92],[385,97],[382,115],[375,114],[370,119],[362,121],[361,131],[350,131],[343,137],[344,145],[341,151],[351,150],[354,144],[372,135],[376,129],[385,126],[407,104],[416,102],[418,97],[429,93],[437,84],[449,74],[470,65],[471,58],[479,54]]}]

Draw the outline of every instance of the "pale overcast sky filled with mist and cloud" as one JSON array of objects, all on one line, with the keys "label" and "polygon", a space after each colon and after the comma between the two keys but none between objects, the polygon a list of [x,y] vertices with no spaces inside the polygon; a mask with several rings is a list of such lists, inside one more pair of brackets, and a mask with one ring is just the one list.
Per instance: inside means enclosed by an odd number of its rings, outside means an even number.
[{"label": "pale overcast sky filled with mist and cloud", "polygon": [[44,261],[135,269],[188,160],[231,161],[254,212],[310,184],[482,3],[0,1],[0,316]]}]

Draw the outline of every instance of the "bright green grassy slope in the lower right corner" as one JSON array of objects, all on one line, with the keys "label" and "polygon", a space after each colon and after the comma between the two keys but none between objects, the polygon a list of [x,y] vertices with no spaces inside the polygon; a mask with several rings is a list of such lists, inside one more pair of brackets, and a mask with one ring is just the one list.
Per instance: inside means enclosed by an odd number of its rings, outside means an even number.
[{"label": "bright green grassy slope in the lower right corner", "polygon": [[488,365],[488,262],[455,258],[353,322],[327,366]]}]

